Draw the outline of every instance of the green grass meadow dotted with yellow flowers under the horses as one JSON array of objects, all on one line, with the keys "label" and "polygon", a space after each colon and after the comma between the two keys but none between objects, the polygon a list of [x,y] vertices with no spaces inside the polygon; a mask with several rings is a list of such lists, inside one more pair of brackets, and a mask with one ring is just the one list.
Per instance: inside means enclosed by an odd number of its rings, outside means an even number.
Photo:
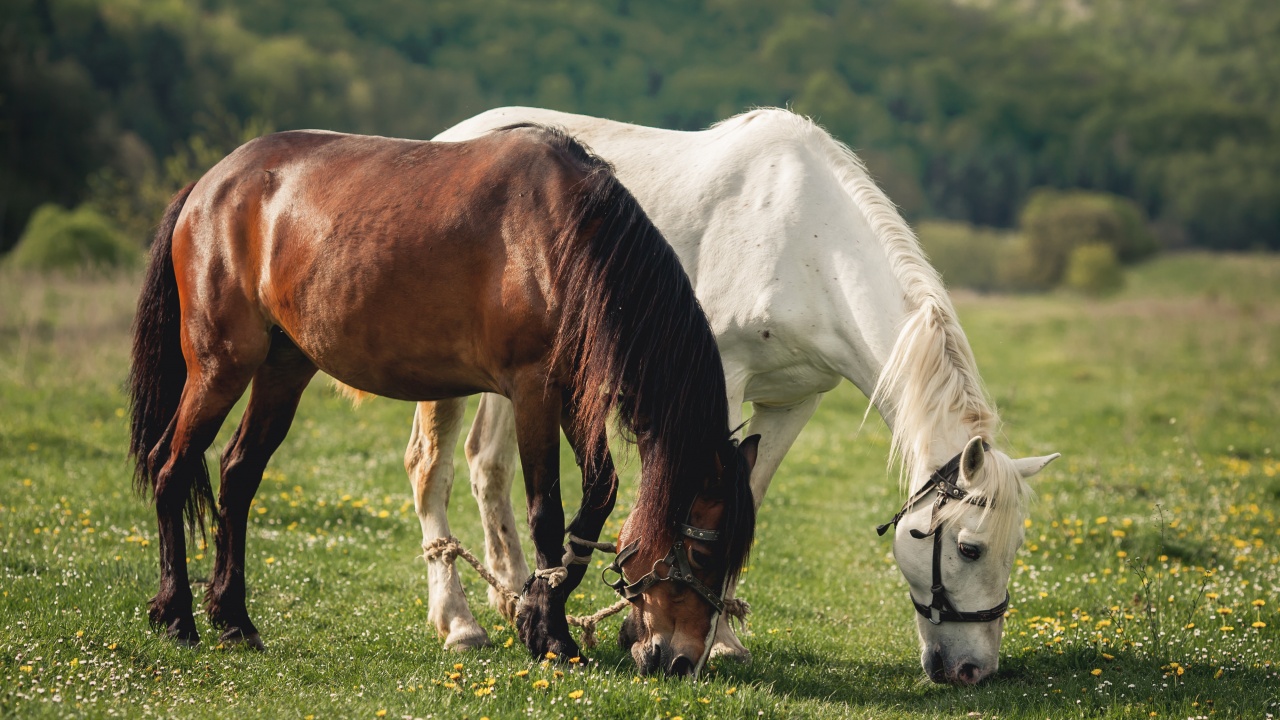
[{"label": "green grass meadow dotted with yellow flowers under the horses", "polygon": [[[905,583],[874,533],[901,500],[887,432],[872,420],[859,433],[865,400],[847,383],[762,510],[741,587],[750,666],[636,678],[612,642],[617,619],[584,665],[531,661],[470,569],[495,643],[444,652],[401,461],[412,409],[352,410],[320,380],[250,527],[250,610],[268,652],[215,647],[200,615],[205,644],[174,647],[146,624],[155,515],[125,461],[136,282],[0,274],[0,715],[1280,714],[1280,258],[1161,259],[1107,301],[957,299],[1001,445],[1064,455],[1034,480],[1000,673],[974,688],[924,680]],[[456,534],[479,548],[461,448],[453,500]],[[189,548],[197,580],[211,561]],[[575,612],[613,600],[594,574],[579,593]]]}]

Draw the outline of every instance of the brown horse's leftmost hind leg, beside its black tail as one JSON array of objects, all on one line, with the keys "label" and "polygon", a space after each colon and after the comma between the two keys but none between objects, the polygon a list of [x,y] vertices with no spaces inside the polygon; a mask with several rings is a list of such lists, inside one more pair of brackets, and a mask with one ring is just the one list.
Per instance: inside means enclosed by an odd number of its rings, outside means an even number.
[{"label": "brown horse's leftmost hind leg, beside its black tail", "polygon": [[[253,355],[252,347],[244,347],[243,351],[241,357]],[[252,373],[252,363],[236,363],[230,357],[188,365],[178,411],[147,460],[152,468],[160,468],[155,475],[160,589],[148,603],[148,615],[151,623],[165,628],[165,634],[187,646],[197,644],[200,633],[191,611],[193,598],[187,575],[183,507],[195,477],[209,471],[205,468],[205,450],[214,442],[218,428],[232,406],[244,393]]]}]

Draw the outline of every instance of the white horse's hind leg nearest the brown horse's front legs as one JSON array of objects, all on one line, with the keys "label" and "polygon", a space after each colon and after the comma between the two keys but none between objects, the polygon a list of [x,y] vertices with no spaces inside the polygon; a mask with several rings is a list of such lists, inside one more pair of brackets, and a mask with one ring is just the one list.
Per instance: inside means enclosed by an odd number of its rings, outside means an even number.
[{"label": "white horse's hind leg nearest the brown horse's front legs", "polygon": [[[480,506],[484,525],[485,565],[508,588],[518,588],[529,577],[529,562],[520,547],[516,514],[511,507],[517,445],[516,415],[509,400],[490,392],[480,396],[466,451],[471,466],[471,495]],[[493,587],[489,588],[489,603],[504,618],[516,612],[511,597]]]}]

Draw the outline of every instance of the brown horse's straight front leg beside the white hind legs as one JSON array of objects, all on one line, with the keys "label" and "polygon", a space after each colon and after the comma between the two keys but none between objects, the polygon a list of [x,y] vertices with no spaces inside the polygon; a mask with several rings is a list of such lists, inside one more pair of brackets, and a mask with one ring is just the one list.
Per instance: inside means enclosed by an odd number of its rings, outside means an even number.
[{"label": "brown horse's straight front leg beside the white hind legs", "polygon": [[568,632],[564,612],[568,589],[562,582],[564,509],[559,493],[559,419],[563,401],[559,388],[541,377],[530,374],[522,380],[512,393],[512,402],[538,571],[525,582],[516,630],[534,657],[550,652],[567,660],[577,656],[579,648]]}]

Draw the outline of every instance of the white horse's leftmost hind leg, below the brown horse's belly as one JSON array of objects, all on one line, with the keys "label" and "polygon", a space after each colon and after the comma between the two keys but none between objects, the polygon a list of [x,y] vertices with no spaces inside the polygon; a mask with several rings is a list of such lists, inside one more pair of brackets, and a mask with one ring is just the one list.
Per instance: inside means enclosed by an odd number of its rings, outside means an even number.
[{"label": "white horse's leftmost hind leg, below the brown horse's belly", "polygon": [[[452,534],[448,510],[453,488],[453,448],[466,409],[466,398],[460,397],[419,402],[413,413],[413,433],[404,451],[404,469],[413,486],[413,507],[422,525],[422,547]],[[444,638],[444,647],[465,651],[489,644],[489,635],[471,615],[454,564],[439,557],[428,560],[426,587],[426,616]]]}]

